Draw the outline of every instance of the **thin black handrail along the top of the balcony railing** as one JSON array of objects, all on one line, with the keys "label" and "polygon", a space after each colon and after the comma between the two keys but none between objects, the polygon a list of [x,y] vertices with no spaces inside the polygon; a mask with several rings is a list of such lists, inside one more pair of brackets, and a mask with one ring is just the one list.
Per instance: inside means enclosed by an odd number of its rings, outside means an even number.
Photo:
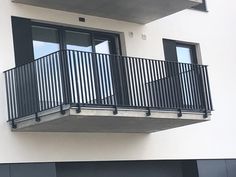
[{"label": "thin black handrail along the top of the balcony railing", "polygon": [[36,59],[34,59],[33,61],[29,61],[29,62],[26,62],[26,63],[24,63],[24,64],[15,66],[15,67],[13,67],[13,68],[7,69],[7,70],[3,71],[3,73],[6,73],[7,71],[11,71],[11,70],[14,70],[14,69],[16,69],[16,68],[19,68],[19,67],[22,67],[22,66],[25,66],[25,65],[28,65],[28,64],[32,64],[32,63],[34,63],[34,62],[36,62],[36,61],[39,61],[39,60],[45,60],[45,58],[48,60],[48,57],[49,57],[49,56],[54,55],[54,54],[56,54],[56,53],[63,52],[63,51],[72,51],[72,52],[88,53],[88,54],[94,54],[94,55],[107,55],[107,56],[121,57],[121,58],[134,58],[134,59],[142,59],[142,60],[159,61],[159,62],[165,62],[165,63],[197,65],[197,66],[205,66],[205,67],[208,67],[208,65],[197,64],[197,63],[183,63],[183,62],[178,62],[178,61],[166,61],[166,60],[160,60],[160,59],[154,59],[154,58],[142,58],[142,57],[124,56],[124,55],[118,55],[118,54],[106,54],[106,53],[87,52],[87,51],[80,51],[80,50],[62,49],[62,50],[58,50],[58,51],[52,52],[52,53],[50,53],[50,54],[44,55],[44,56],[42,56],[42,57],[36,58]]}]

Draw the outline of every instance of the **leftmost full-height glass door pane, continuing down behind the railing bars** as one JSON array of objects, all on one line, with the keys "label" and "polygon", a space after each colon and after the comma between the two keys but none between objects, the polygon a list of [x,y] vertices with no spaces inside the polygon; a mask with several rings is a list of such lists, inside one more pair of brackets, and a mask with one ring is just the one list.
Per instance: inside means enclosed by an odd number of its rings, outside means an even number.
[{"label": "leftmost full-height glass door pane, continuing down behind the railing bars", "polygon": [[58,30],[32,26],[32,39],[34,58],[41,58],[35,61],[35,72],[32,74],[37,78],[39,108],[45,110],[58,106],[61,101],[59,100],[62,94],[62,90],[59,89],[60,71],[53,67],[55,63],[59,63],[58,53],[54,53],[60,50]]}]

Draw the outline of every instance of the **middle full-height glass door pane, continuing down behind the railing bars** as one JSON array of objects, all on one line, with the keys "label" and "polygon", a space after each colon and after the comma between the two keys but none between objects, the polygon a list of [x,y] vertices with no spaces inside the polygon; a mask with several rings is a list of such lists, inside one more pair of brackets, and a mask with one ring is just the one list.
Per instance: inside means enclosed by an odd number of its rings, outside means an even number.
[{"label": "middle full-height glass door pane, continuing down behind the railing bars", "polygon": [[90,33],[65,32],[65,46],[73,103],[92,104],[97,99]]}]

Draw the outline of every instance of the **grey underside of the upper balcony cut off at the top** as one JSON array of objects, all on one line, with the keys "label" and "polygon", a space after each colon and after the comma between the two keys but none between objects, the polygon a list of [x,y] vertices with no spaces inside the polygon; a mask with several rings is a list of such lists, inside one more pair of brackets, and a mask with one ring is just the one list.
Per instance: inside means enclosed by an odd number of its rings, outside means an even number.
[{"label": "grey underside of the upper balcony cut off at the top", "polygon": [[16,3],[146,24],[201,0],[12,0]]}]

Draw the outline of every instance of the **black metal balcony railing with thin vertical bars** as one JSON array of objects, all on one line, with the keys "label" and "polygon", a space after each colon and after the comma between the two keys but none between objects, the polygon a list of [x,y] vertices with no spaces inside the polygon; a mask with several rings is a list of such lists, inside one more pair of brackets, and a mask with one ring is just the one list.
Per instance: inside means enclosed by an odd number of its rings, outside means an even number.
[{"label": "black metal balcony railing with thin vertical bars", "polygon": [[62,50],[5,77],[11,121],[63,105],[212,110],[204,65]]}]

